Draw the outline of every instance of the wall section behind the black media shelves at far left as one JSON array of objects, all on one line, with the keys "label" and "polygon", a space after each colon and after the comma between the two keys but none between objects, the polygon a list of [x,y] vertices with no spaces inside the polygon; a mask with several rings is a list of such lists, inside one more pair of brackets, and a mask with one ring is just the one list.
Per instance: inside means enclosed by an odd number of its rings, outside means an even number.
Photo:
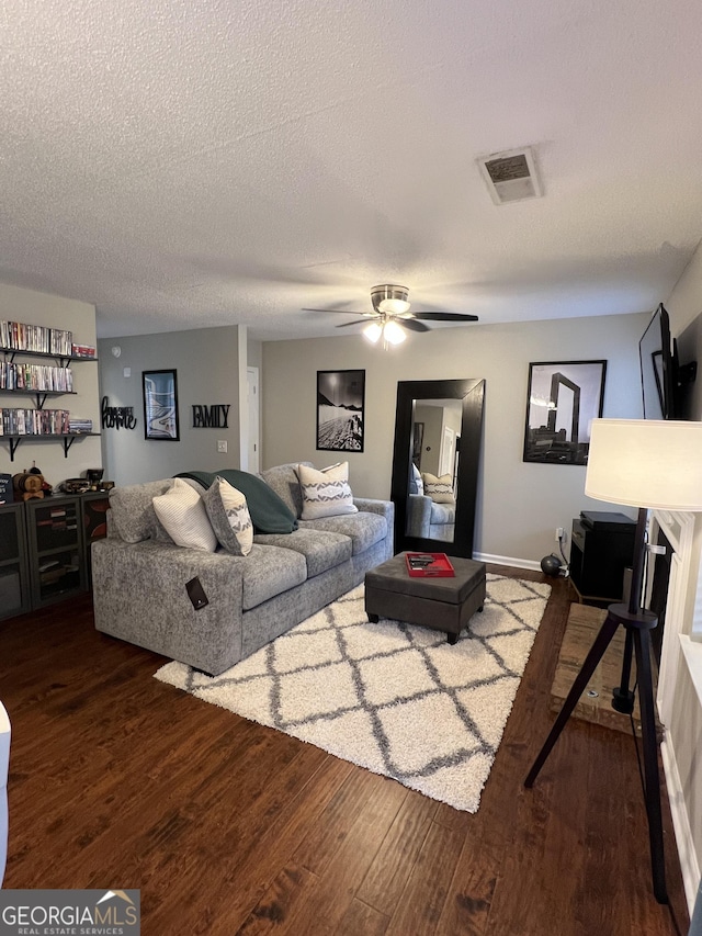
[{"label": "wall section behind the black media shelves at far left", "polygon": [[[75,343],[95,345],[95,308],[84,302],[0,283],[0,319],[63,328],[73,332]],[[38,362],[38,359],[34,360]],[[98,366],[92,361],[72,362],[76,395],[48,397],[46,408],[68,409],[75,416],[92,419],[93,429],[99,432]],[[2,394],[0,406],[27,408],[35,404],[31,397]],[[68,477],[84,476],[86,469],[102,466],[100,439],[77,439],[68,458],[64,456],[60,440],[25,440],[20,443],[14,461],[10,461],[9,442],[0,441],[0,472],[18,474],[32,467],[32,462],[36,462],[46,481],[57,487]]]}]

